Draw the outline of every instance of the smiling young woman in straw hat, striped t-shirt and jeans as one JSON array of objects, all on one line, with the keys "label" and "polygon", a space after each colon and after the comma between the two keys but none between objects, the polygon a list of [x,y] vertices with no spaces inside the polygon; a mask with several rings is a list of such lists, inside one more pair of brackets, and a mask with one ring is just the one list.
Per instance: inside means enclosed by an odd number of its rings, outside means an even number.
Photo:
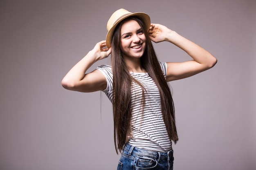
[{"label": "smiling young woman in straw hat, striped t-shirt and jeans", "polygon": [[[118,169],[172,170],[172,141],[178,140],[173,99],[167,82],[213,67],[208,51],[160,24],[146,13],[115,11],[107,24],[106,41],[78,62],[62,80],[64,88],[103,91],[113,104]],[[159,62],[152,42],[168,41],[192,57],[186,62]],[[88,68],[111,53],[111,66]]]}]

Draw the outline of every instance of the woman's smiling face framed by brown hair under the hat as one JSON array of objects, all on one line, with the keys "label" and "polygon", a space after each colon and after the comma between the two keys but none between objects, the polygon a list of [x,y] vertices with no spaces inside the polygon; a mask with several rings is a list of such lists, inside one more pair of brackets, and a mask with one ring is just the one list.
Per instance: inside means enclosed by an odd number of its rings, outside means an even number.
[{"label": "woman's smiling face framed by brown hair under the hat", "polygon": [[128,20],[121,26],[121,51],[124,59],[140,58],[146,48],[146,37],[135,20]]}]

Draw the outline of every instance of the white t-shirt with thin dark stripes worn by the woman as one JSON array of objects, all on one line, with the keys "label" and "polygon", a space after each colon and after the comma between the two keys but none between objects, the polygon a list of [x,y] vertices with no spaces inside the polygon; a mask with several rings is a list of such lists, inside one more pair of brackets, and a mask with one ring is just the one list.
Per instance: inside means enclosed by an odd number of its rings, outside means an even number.
[{"label": "white t-shirt with thin dark stripes worn by the woman", "polygon": [[[164,77],[166,77],[166,63],[159,63]],[[108,65],[101,65],[99,69],[107,79],[107,87],[103,90],[112,102],[113,97],[113,74],[112,68]],[[160,95],[157,86],[148,73],[130,73],[145,88],[145,105],[142,110],[141,87],[132,82],[131,86],[131,135],[128,143],[138,148],[166,152],[171,150],[172,142],[168,137],[162,109]]]}]

